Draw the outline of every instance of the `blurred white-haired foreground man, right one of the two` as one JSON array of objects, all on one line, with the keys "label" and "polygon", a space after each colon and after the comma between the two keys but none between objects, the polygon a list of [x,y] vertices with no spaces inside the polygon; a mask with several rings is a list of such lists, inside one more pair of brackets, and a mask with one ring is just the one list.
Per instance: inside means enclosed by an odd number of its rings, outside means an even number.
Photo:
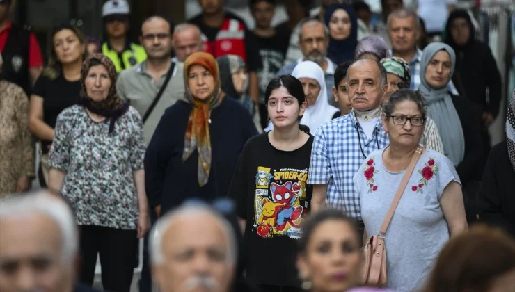
[{"label": "blurred white-haired foreground man, right one of the two", "polygon": [[150,236],[160,291],[231,291],[237,241],[225,218],[206,206],[181,206],[160,218]]}]

